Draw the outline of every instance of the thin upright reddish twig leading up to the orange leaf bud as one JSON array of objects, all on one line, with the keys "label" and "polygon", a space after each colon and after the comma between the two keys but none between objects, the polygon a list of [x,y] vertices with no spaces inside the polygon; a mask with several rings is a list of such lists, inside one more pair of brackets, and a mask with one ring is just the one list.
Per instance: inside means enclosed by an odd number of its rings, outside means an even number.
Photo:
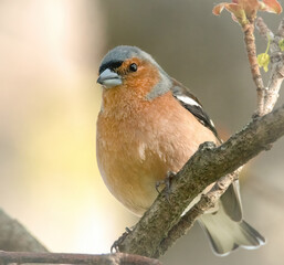
[{"label": "thin upright reddish twig leading up to the orange leaf bud", "polygon": [[256,92],[257,92],[257,110],[256,116],[263,115],[264,109],[264,97],[265,97],[265,88],[263,85],[260,67],[257,64],[256,59],[256,47],[255,47],[255,38],[254,38],[254,24],[252,23],[245,23],[242,25],[243,33],[244,33],[244,43],[246,46],[246,53],[248,59],[250,62],[252,78],[256,85]]}]

